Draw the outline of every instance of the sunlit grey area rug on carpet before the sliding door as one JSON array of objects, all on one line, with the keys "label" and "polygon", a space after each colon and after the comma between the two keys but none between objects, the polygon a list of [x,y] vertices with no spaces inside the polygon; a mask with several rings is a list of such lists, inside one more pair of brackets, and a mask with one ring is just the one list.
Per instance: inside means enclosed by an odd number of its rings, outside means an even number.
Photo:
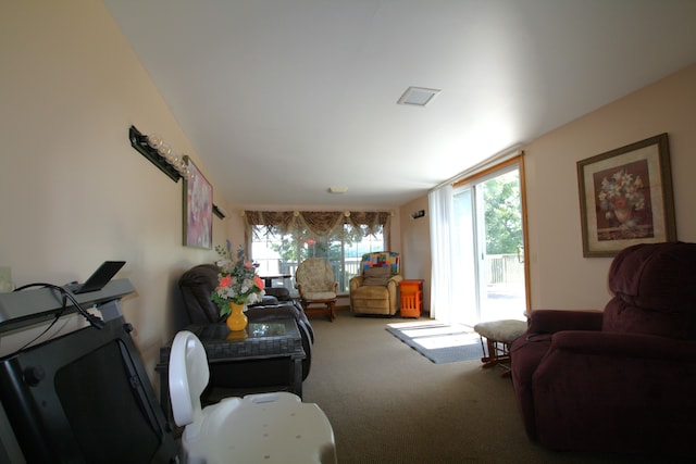
[{"label": "sunlit grey area rug on carpet before the sliding door", "polygon": [[465,326],[412,322],[388,324],[386,330],[435,364],[483,356],[478,334]]}]

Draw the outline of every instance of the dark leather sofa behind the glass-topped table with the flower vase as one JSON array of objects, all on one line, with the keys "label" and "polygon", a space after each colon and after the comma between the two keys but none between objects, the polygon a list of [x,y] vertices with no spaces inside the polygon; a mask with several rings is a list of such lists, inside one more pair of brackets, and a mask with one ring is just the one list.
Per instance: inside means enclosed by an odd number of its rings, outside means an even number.
[{"label": "dark leather sofa behind the glass-topped table with the flower vase", "polygon": [[[190,324],[222,323],[217,306],[210,300],[210,293],[217,286],[217,267],[213,264],[197,265],[182,275],[178,287],[184,298],[184,305]],[[283,290],[283,289],[281,289]],[[266,292],[273,292],[266,289]],[[299,303],[278,296],[266,294],[260,304],[248,308],[246,315],[250,323],[265,323],[278,318],[295,318],[302,337],[306,358],[302,361],[302,380],[307,378],[312,363],[312,344],[314,331]],[[284,360],[250,360],[224,367],[211,365],[211,387],[256,388],[288,385],[288,364]]]}]

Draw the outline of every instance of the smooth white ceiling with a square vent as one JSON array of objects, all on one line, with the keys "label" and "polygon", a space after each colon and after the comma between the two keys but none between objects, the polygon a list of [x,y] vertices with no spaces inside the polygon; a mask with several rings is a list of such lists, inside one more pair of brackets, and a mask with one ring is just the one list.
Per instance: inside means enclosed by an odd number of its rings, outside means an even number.
[{"label": "smooth white ceiling with a square vent", "polygon": [[695,0],[104,3],[245,208],[398,206],[696,62]]}]

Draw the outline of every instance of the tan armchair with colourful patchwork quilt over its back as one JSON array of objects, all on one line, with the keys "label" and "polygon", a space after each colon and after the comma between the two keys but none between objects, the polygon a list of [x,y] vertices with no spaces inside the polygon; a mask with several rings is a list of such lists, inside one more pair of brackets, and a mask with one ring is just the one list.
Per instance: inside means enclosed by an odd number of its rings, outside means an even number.
[{"label": "tan armchair with colourful patchwork quilt over its back", "polygon": [[399,253],[365,253],[360,275],[350,279],[350,311],[353,314],[393,316],[399,310]]}]

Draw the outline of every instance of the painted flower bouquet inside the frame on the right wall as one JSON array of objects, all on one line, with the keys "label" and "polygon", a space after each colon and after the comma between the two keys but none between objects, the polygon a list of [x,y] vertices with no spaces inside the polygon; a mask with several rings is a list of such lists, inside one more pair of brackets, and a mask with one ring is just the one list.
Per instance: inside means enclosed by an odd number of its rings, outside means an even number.
[{"label": "painted flower bouquet inside the frame on the right wall", "polygon": [[645,196],[641,176],[625,170],[617,171],[611,178],[605,177],[601,180],[601,189],[597,195],[599,208],[606,211],[607,220],[616,217],[620,223],[625,223],[631,218],[631,213],[645,208]]}]

